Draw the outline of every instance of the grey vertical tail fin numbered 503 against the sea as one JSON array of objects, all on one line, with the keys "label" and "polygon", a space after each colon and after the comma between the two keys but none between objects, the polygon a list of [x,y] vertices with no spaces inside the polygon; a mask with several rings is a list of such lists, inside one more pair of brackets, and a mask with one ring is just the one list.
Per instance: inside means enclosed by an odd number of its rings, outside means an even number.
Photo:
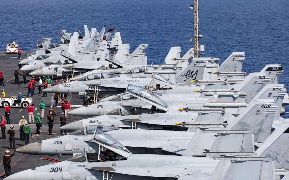
[{"label": "grey vertical tail fin numbered 503 against the sea", "polygon": [[219,72],[241,72],[245,52],[232,52],[231,55],[219,67]]}]

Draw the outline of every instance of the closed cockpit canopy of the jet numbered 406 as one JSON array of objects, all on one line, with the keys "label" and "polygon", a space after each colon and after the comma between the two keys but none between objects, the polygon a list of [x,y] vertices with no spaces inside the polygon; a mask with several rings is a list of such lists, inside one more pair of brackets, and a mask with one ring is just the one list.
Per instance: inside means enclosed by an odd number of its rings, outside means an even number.
[{"label": "closed cockpit canopy of the jet numbered 406", "polygon": [[85,126],[79,130],[73,131],[70,133],[70,135],[73,136],[84,136],[88,134],[94,134],[95,130],[107,132],[107,131],[113,131],[113,130],[118,130],[119,128],[111,127],[111,126],[99,126],[99,125],[89,125]]}]

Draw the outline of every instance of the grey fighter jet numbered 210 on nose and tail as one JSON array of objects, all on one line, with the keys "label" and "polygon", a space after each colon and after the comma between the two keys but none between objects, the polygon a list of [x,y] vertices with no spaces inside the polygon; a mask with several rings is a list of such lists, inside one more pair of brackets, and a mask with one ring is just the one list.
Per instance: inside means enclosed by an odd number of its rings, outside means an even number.
[{"label": "grey fighter jet numbered 210 on nose and tail", "polygon": [[[239,100],[240,103],[242,102],[249,102],[250,100],[252,100],[252,98],[254,98],[257,93],[259,92],[259,90],[261,90],[261,88],[263,88],[263,86],[267,83],[270,82],[270,77],[268,75],[263,75],[264,73],[250,73],[249,76],[247,76],[246,79],[244,79],[243,82],[241,83],[237,83],[234,86],[231,86],[230,89],[219,89],[219,90],[212,90],[212,92],[214,92],[216,95],[218,94],[220,97],[221,96],[228,96],[231,97],[231,99],[229,101],[236,101],[235,97],[241,97],[244,95],[246,96],[246,101],[244,100]],[[259,76],[264,76],[263,79],[259,79]],[[273,77],[272,77],[273,78]],[[166,79],[165,77],[161,76],[160,74],[157,73],[153,73],[152,79],[155,80],[155,82],[162,80],[162,79]],[[162,84],[164,84],[165,80],[163,80]],[[161,83],[158,83],[161,84]],[[166,80],[165,85],[171,86],[172,82],[170,82],[169,80]],[[145,91],[145,89],[141,88],[141,87],[136,87],[135,85],[129,85],[129,87],[131,87],[132,89],[140,89],[142,91]],[[182,87],[182,86],[179,86]],[[250,87],[250,88],[248,88]],[[231,90],[232,88],[234,88],[234,90]],[[179,91],[178,89],[169,89],[169,90],[163,90],[163,91],[153,91],[155,92],[155,95],[157,95],[158,98],[162,99],[163,101],[165,101],[168,104],[180,104],[181,100],[184,99],[183,103],[189,103],[187,102],[185,99],[186,98],[194,98],[196,102],[191,102],[191,104],[196,103],[198,104],[201,101],[198,101],[199,98],[208,98],[208,99],[212,99],[211,96],[207,96],[207,97],[200,97],[201,95],[204,95],[206,93],[196,93],[194,92],[194,88],[191,86],[187,87],[188,91]],[[257,89],[258,91],[254,90]],[[181,88],[181,90],[184,90],[184,88]],[[148,88],[147,88],[148,91]],[[169,91],[172,91],[171,93]],[[184,93],[184,92],[188,92],[188,93]],[[191,93],[195,93],[195,94],[191,94]],[[210,93],[212,93],[210,92]],[[227,92],[227,93],[226,93]],[[223,93],[223,94],[220,94]],[[215,95],[214,94],[214,95]],[[147,106],[147,102],[143,101],[143,100],[139,100],[136,99],[134,96],[138,96],[138,95],[127,95],[127,94],[121,94],[118,96],[115,96],[111,99],[108,99],[107,101],[101,101],[98,102],[96,104],[92,104],[89,105],[88,107],[80,107],[74,110],[71,110],[69,113],[70,115],[75,115],[75,116],[99,116],[99,115],[104,115],[107,113],[110,113],[113,110],[122,109],[122,106],[127,106],[127,107],[142,107],[144,108],[145,106]],[[180,98],[173,98],[173,97],[180,97]],[[232,98],[233,97],[233,98]],[[142,98],[142,97],[139,97]],[[163,99],[165,98],[165,99]],[[240,98],[239,98],[240,99]],[[228,101],[228,98],[224,101]],[[204,101],[202,101],[203,103]],[[207,102],[207,101],[206,101]],[[146,107],[148,108],[148,107]],[[123,114],[125,114],[125,112],[122,112]]]}]

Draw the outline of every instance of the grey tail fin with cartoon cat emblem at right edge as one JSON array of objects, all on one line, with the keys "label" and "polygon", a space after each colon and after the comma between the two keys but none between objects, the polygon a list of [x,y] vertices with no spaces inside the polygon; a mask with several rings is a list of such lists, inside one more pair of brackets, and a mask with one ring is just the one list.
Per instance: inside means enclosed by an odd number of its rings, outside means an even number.
[{"label": "grey tail fin with cartoon cat emblem at right edge", "polygon": [[278,128],[256,150],[258,156],[267,157],[275,162],[275,168],[289,170],[289,119]]}]

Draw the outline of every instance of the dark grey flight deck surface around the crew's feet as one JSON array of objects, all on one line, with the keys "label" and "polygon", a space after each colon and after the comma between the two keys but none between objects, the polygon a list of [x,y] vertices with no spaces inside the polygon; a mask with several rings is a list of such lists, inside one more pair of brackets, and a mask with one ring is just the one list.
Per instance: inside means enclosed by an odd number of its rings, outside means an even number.
[{"label": "dark grey flight deck surface around the crew's feet", "polygon": [[[24,59],[28,57],[29,55],[35,54],[35,52],[25,52],[22,51],[21,53],[21,58]],[[27,89],[27,84],[24,84],[23,81],[23,76],[20,74],[19,76],[19,84],[15,84],[15,79],[14,79],[14,71],[18,67],[18,55],[17,54],[6,54],[6,52],[0,52],[0,70],[2,70],[4,74],[4,83],[5,87],[0,87],[4,88],[5,91],[5,96],[17,96],[19,92],[22,93],[22,95],[26,96],[28,89]],[[22,72],[20,72],[22,73]],[[27,76],[26,80],[29,81],[31,79],[31,76]],[[47,97],[42,97],[42,95],[37,94],[38,93],[38,78],[36,79],[36,87],[35,87],[35,95],[33,95],[33,105],[34,105],[34,116],[36,117],[36,113],[40,113],[40,108],[39,108],[39,102],[41,99],[43,99],[44,104],[46,105],[45,108],[45,119],[42,119],[42,124],[43,126],[41,127],[40,131],[42,134],[36,134],[36,124],[31,124],[30,127],[33,132],[33,136],[30,137],[29,143],[34,143],[34,142],[39,142],[41,140],[49,139],[54,136],[61,136],[60,134],[60,121],[59,121],[59,116],[62,112],[61,108],[56,108],[57,115],[55,116],[54,119],[54,127],[53,127],[53,135],[48,135],[48,126],[47,126],[47,113],[50,108],[50,104],[53,101],[53,93],[48,93]],[[61,79],[60,79],[61,81]],[[58,81],[59,82],[59,81]],[[55,82],[52,82],[52,85]],[[43,89],[43,87],[42,87]],[[71,103],[71,105],[81,105],[83,104],[82,99],[79,98],[78,95],[68,95],[67,99]],[[60,101],[58,102],[59,106]],[[5,116],[4,113],[4,108],[0,108],[0,115]],[[20,146],[25,145],[25,141],[20,140],[20,131],[18,130],[18,123],[19,120],[21,119],[21,116],[24,115],[25,119],[28,121],[28,113],[26,112],[26,109],[21,109],[21,108],[11,108],[10,112],[10,121],[11,124],[6,124],[6,139],[5,140],[0,140],[0,157],[2,160],[3,155],[5,154],[5,150],[10,148],[10,143],[9,143],[9,134],[7,134],[7,131],[10,129],[10,125],[14,126],[15,130],[15,140],[16,140],[16,148],[19,148]],[[78,116],[71,116],[71,119],[67,119],[67,123],[78,121],[80,119],[85,119],[85,117],[78,117]],[[2,137],[2,134],[0,133],[0,137]],[[12,153],[14,150],[10,149],[10,152]],[[51,159],[58,159],[57,156],[41,156],[41,155],[25,155],[21,153],[16,153],[14,157],[12,157],[11,161],[11,173],[17,173],[23,170],[27,170],[30,168],[34,167],[39,167],[43,166],[46,164],[51,163],[51,161],[47,160],[40,160],[39,158],[43,157],[48,157]],[[66,160],[70,158],[71,156],[61,156],[61,160]],[[4,173],[4,166],[2,164],[2,161],[0,161],[0,180],[5,178],[5,173]]]}]

